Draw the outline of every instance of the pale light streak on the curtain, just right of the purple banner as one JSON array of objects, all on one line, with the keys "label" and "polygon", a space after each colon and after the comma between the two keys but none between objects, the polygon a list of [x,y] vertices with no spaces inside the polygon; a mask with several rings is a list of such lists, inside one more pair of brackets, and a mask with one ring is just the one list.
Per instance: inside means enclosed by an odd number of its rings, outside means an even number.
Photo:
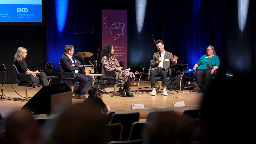
[{"label": "pale light streak on the curtain, just right of the purple banner", "polygon": [[143,27],[147,0],[135,0],[137,30],[140,33]]}]

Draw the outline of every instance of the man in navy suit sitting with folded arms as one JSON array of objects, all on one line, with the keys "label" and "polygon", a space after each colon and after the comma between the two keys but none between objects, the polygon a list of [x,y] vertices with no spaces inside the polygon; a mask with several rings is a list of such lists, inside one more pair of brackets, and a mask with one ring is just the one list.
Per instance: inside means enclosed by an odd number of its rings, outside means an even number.
[{"label": "man in navy suit sitting with folded arms", "polygon": [[[77,92],[75,93],[75,97],[79,99],[85,99],[86,97],[83,93],[86,93],[89,86],[92,85],[93,78],[91,76],[86,76],[85,74],[81,74],[79,72],[78,66],[80,66],[81,62],[73,57],[74,46],[66,45],[64,49],[64,54],[60,58],[60,65],[64,72],[72,72],[76,75],[76,81],[79,81],[80,84],[77,88]],[[69,82],[70,80],[64,79],[63,82]]]}]

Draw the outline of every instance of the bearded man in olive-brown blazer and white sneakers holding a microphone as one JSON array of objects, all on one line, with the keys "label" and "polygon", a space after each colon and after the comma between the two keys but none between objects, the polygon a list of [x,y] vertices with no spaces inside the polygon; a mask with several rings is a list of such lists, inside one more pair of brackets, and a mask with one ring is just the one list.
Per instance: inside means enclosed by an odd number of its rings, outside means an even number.
[{"label": "bearded man in olive-brown blazer and white sneakers holding a microphone", "polygon": [[[163,81],[163,95],[167,96],[166,91],[166,84],[167,84],[167,73],[170,69],[170,64],[176,65],[177,64],[177,55],[174,55],[164,50],[164,43],[162,40],[155,41],[156,47],[159,50],[159,52],[154,53],[153,59],[151,62],[151,72],[150,72],[150,81],[151,81],[151,87],[153,88],[151,95],[155,96],[155,77],[160,76]],[[160,57],[161,53],[161,57]],[[159,89],[161,89],[159,87]]]}]

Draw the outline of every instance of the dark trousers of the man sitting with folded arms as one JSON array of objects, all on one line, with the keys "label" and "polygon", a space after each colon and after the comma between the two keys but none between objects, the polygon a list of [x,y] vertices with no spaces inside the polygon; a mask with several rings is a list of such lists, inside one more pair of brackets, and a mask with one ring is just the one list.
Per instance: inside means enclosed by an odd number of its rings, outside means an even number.
[{"label": "dark trousers of the man sitting with folded arms", "polygon": [[93,77],[87,76],[87,75],[81,74],[81,73],[75,73],[75,75],[76,75],[76,81],[80,82],[77,90],[83,91],[86,93],[88,88],[90,86],[92,86]]}]

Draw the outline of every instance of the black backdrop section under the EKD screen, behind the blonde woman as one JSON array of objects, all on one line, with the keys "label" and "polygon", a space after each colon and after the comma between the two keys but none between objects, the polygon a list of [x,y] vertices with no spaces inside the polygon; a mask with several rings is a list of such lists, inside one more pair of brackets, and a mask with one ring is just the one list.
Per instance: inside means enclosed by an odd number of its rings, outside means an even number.
[{"label": "black backdrop section under the EKD screen, behind the blonde woman", "polygon": [[8,76],[3,75],[3,82],[17,83],[12,65],[14,54],[19,47],[28,49],[25,60],[29,70],[44,69],[45,35],[44,26],[0,26],[0,64],[6,64],[5,72]]}]

